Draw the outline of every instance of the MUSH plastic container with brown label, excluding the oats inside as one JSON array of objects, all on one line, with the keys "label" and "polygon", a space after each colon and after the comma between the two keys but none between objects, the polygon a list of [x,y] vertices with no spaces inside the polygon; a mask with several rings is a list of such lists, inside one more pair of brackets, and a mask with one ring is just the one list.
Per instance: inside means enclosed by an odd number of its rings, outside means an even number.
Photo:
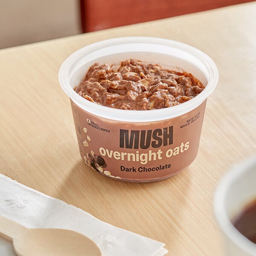
[{"label": "MUSH plastic container with brown label, excluding the oats inside", "polygon": [[[97,105],[73,90],[94,63],[111,65],[126,59],[192,73],[205,89],[180,105],[148,111]],[[195,160],[207,97],[218,83],[218,69],[209,56],[189,45],[163,38],[125,37],[74,52],[62,64],[59,82],[71,100],[85,163],[113,179],[149,182],[171,177]]]}]

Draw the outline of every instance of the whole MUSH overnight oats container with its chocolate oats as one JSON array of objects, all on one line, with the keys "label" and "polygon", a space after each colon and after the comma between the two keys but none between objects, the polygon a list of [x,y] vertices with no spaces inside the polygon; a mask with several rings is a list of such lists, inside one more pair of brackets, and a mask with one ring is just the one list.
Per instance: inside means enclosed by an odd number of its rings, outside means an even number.
[{"label": "whole MUSH overnight oats container with its chocolate oats", "polygon": [[85,163],[116,180],[151,182],[195,160],[218,69],[177,41],[113,38],[70,55],[59,82],[70,97]]}]

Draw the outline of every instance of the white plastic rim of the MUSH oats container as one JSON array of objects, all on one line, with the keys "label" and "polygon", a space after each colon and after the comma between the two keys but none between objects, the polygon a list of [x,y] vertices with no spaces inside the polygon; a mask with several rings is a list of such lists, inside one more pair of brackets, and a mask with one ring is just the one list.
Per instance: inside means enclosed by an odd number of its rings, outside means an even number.
[{"label": "white plastic rim of the MUSH oats container", "polygon": [[[180,105],[176,105],[170,108],[162,108],[157,110],[150,110],[150,114],[145,115],[145,111],[130,111],[122,109],[108,108],[105,106],[97,105],[93,102],[87,101],[77,94],[72,86],[70,85],[68,79],[68,72],[70,67],[76,62],[77,58],[82,55],[86,55],[90,52],[96,51],[97,49],[102,49],[104,47],[115,46],[117,44],[127,44],[127,43],[151,43],[175,47],[181,49],[184,52],[188,52],[197,58],[201,63],[205,64],[207,71],[209,73],[209,81],[205,89],[194,99],[184,102]],[[132,51],[131,51],[132,52]],[[184,113],[192,111],[199,105],[201,105],[207,97],[213,92],[218,83],[218,68],[214,61],[206,55],[204,52],[196,49],[195,47],[189,46],[188,44],[180,43],[178,41],[172,41],[163,38],[153,38],[153,37],[122,37],[122,38],[112,38],[104,41],[99,41],[94,44],[89,44],[70,55],[61,65],[59,74],[59,83],[62,90],[70,97],[70,99],[78,105],[80,108],[93,113],[97,116],[105,117],[108,119],[113,119],[117,121],[125,122],[151,122],[170,119],[176,116],[180,116]]]}]

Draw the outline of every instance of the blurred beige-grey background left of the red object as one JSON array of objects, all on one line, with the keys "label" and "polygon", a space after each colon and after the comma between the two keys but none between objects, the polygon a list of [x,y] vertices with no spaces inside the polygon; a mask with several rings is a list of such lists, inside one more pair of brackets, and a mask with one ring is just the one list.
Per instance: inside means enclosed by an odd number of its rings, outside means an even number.
[{"label": "blurred beige-grey background left of the red object", "polygon": [[79,0],[0,0],[0,49],[80,33]]}]

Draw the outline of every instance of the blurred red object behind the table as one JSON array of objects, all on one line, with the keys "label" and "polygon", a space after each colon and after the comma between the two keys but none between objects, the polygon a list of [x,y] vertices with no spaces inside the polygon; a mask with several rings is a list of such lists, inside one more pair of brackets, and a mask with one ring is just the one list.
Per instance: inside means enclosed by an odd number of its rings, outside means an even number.
[{"label": "blurred red object behind the table", "polygon": [[83,32],[215,9],[253,0],[80,0]]}]

